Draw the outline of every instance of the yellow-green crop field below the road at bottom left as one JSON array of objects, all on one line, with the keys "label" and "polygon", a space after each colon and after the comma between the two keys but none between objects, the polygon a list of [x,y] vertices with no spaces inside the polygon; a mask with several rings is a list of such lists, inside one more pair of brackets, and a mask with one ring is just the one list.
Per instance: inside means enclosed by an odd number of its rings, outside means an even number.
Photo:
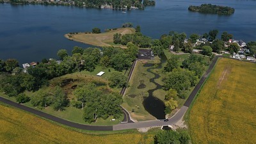
[{"label": "yellow-green crop field below the road at bottom left", "polygon": [[0,143],[153,143],[154,134],[84,134],[0,103]]}]

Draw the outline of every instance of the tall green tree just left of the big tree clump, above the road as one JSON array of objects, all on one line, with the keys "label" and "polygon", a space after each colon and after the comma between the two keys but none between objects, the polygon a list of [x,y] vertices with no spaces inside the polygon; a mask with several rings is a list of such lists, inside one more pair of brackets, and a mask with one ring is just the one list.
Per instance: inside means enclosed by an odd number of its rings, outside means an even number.
[{"label": "tall green tree just left of the big tree clump, above the road", "polygon": [[68,106],[67,94],[60,86],[56,86],[52,92],[52,108],[62,111],[66,106]]}]

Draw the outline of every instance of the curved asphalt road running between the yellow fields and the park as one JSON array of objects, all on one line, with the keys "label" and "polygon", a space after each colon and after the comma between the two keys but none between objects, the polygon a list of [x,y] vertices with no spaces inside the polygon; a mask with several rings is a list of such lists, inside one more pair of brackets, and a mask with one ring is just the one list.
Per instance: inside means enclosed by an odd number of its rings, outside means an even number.
[{"label": "curved asphalt road running between the yellow fields and the park", "polygon": [[[24,111],[28,111],[30,113],[33,113],[38,116],[42,116],[44,118],[47,118],[49,120],[52,120],[54,122],[58,122],[63,125],[67,125],[70,127],[75,127],[78,129],[86,129],[86,130],[92,130],[92,131],[116,131],[116,130],[122,130],[122,129],[138,129],[143,127],[157,127],[157,126],[163,126],[163,125],[172,125],[178,122],[186,113],[188,107],[190,106],[191,102],[195,98],[196,93],[204,83],[205,79],[209,76],[212,68],[214,68],[214,65],[218,58],[222,56],[216,56],[214,60],[212,61],[211,65],[209,66],[208,70],[205,72],[204,76],[200,79],[198,84],[196,84],[193,92],[188,97],[188,100],[186,100],[185,104],[182,106],[182,108],[179,109],[179,111],[172,116],[172,118],[169,118],[168,122],[164,122],[163,120],[152,120],[147,122],[136,122],[136,123],[125,123],[125,124],[117,124],[113,126],[94,126],[94,125],[83,125],[83,124],[77,124],[74,122],[69,122],[67,120],[63,120],[62,118],[58,118],[56,116],[49,115],[47,113],[44,113],[42,111],[38,111],[33,108],[29,108],[27,106],[23,106],[21,104],[17,104],[16,102],[12,102],[11,100],[4,99],[3,97],[0,97],[0,101],[4,102],[6,104],[9,104],[11,106],[14,106],[16,108],[22,109]],[[126,111],[127,112],[127,111]],[[129,113],[128,113],[129,114]],[[127,118],[128,119],[128,118]]]}]

